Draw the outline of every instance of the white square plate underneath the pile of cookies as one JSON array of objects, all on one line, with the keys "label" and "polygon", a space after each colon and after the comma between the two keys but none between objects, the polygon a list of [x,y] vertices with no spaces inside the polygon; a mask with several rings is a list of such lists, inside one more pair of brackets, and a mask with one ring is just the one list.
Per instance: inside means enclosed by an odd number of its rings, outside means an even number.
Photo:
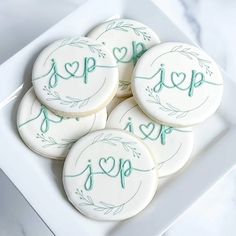
[{"label": "white square plate underneath the pile of cookies", "polygon": [[96,222],[79,214],[66,200],[61,181],[63,163],[42,158],[22,143],[16,129],[17,107],[31,86],[32,64],[46,45],[66,36],[84,35],[114,15],[149,25],[163,42],[192,43],[152,1],[88,0],[0,66],[0,167],[55,235],[161,234],[236,163],[236,85],[224,75],[220,109],[194,128],[192,161],[165,180],[141,214],[120,223]]}]

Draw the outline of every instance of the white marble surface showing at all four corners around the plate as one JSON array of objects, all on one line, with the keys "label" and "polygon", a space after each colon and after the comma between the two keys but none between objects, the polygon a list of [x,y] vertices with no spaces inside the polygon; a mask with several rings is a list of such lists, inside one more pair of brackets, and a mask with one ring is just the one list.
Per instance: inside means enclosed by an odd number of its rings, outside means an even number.
[{"label": "white marble surface showing at all four corners around the plate", "polygon": [[[73,11],[81,1],[0,1],[0,64]],[[155,0],[155,2],[182,31],[197,41],[228,74],[234,77],[235,0]],[[1,172],[0,188],[0,236],[52,235]],[[236,235],[235,219],[236,169],[202,196],[165,233],[165,236],[233,236]]]}]

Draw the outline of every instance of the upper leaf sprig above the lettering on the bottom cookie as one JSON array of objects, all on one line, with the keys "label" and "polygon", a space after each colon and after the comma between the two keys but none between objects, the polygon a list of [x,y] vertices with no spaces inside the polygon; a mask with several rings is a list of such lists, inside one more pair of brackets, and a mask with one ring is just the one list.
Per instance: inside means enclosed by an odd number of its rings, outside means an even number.
[{"label": "upper leaf sprig above the lettering on the bottom cookie", "polygon": [[137,148],[134,147],[136,145],[135,142],[127,142],[122,139],[122,137],[115,137],[112,136],[112,134],[107,134],[104,135],[103,133],[96,136],[92,142],[92,144],[102,142],[106,143],[112,146],[116,146],[118,143],[122,145],[122,147],[125,149],[127,152],[132,152],[133,157],[140,158],[141,153],[137,151]]}]

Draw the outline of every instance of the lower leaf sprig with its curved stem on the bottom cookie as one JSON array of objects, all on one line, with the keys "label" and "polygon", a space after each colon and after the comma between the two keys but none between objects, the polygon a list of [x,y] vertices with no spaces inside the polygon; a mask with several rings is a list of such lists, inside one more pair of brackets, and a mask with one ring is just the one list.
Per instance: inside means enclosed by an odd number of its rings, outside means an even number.
[{"label": "lower leaf sprig with its curved stem on the bottom cookie", "polygon": [[94,211],[102,212],[104,215],[108,215],[108,214],[117,215],[120,212],[122,212],[124,207],[135,198],[135,196],[139,192],[139,189],[141,188],[141,185],[142,185],[142,182],[139,183],[139,186],[137,190],[134,192],[134,194],[128,200],[120,204],[112,204],[112,203],[107,203],[103,201],[99,201],[98,203],[95,203],[91,196],[86,195],[83,192],[83,190],[80,190],[80,189],[77,189],[75,194],[77,194],[81,200],[81,203],[79,203],[80,206],[91,207]]}]

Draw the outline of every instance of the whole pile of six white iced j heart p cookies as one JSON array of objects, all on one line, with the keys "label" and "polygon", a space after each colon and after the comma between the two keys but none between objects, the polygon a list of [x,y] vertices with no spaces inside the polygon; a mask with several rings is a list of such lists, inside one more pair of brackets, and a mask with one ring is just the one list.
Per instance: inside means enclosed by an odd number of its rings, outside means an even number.
[{"label": "whole pile of six white iced j heart p cookies", "polygon": [[32,83],[19,133],[40,155],[65,159],[68,199],[97,220],[124,220],[150,203],[159,178],[190,159],[191,127],[214,114],[223,93],[220,70],[201,49],[160,43],[129,19],[50,44]]}]

